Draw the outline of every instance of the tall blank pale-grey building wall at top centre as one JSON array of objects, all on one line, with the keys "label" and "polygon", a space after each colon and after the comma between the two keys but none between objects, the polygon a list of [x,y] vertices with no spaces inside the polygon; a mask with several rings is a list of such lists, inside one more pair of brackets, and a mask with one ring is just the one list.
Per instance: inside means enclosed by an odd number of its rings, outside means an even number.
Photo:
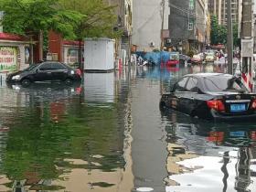
[{"label": "tall blank pale-grey building wall at top centre", "polygon": [[[155,48],[161,46],[161,10],[162,0],[133,0],[133,36],[132,44],[138,50],[149,51],[150,42],[155,43]],[[164,29],[168,29],[168,16],[170,8],[165,1]]]}]

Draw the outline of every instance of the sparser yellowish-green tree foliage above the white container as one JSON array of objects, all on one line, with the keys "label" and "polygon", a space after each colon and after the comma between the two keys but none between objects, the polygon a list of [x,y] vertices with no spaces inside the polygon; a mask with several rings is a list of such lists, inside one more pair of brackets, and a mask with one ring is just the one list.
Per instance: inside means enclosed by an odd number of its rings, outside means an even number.
[{"label": "sparser yellowish-green tree foliage above the white container", "polygon": [[116,6],[103,0],[60,0],[65,10],[85,15],[75,28],[77,37],[120,37],[122,31],[114,30],[117,24]]}]

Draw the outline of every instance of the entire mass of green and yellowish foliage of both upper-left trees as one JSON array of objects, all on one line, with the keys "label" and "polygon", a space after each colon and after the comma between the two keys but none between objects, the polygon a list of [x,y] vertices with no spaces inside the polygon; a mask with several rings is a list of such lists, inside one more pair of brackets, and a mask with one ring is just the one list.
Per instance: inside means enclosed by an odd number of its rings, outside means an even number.
[{"label": "entire mass of green and yellowish foliage of both upper-left trees", "polygon": [[82,37],[116,37],[115,7],[102,0],[0,0],[5,11],[5,32],[53,29],[69,39]]}]

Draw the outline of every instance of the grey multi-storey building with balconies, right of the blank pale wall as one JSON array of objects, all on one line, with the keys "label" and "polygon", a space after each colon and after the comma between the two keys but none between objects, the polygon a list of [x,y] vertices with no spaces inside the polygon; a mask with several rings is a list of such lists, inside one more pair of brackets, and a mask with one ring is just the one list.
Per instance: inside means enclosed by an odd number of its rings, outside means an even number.
[{"label": "grey multi-storey building with balconies, right of the blank pale wall", "polygon": [[170,0],[170,38],[166,45],[187,53],[198,52],[208,44],[208,8],[203,0]]}]

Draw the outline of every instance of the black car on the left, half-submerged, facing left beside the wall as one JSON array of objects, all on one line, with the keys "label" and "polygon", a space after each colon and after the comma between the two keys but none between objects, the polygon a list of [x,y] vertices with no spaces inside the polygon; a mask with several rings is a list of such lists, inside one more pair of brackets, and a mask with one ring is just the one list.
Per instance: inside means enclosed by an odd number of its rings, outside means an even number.
[{"label": "black car on the left, half-submerged, facing left beside the wall", "polygon": [[29,86],[37,81],[63,81],[69,84],[74,80],[81,80],[80,74],[80,69],[72,69],[60,62],[45,61],[9,74],[6,82],[20,83],[23,86]]}]

